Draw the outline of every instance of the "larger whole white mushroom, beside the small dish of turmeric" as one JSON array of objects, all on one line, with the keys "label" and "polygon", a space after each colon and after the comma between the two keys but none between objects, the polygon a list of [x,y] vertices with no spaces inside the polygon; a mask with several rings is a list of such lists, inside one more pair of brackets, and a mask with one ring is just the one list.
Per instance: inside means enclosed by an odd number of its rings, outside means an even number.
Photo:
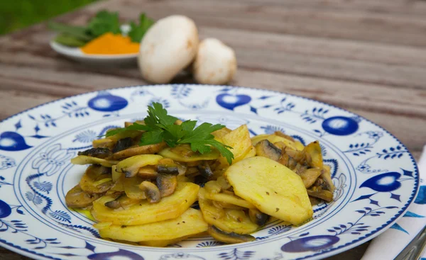
[{"label": "larger whole white mushroom, beside the small dish of turmeric", "polygon": [[186,16],[158,20],[141,41],[138,55],[142,77],[154,83],[168,83],[185,69],[198,50],[198,31]]}]

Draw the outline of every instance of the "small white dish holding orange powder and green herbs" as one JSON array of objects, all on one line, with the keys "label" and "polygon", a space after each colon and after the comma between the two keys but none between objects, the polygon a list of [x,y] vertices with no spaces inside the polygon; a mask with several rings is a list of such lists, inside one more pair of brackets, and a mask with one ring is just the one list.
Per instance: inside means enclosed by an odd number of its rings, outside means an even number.
[{"label": "small white dish holding orange powder and green herbs", "polygon": [[[128,25],[121,26],[121,31],[124,31],[124,35],[129,31]],[[85,62],[91,64],[130,64],[136,62],[138,53],[132,54],[114,54],[114,55],[104,55],[104,54],[86,54],[80,50],[79,47],[67,47],[60,43],[56,43],[54,40],[50,40],[50,47],[52,47],[55,52],[58,52],[60,55],[75,60],[77,62]]]}]

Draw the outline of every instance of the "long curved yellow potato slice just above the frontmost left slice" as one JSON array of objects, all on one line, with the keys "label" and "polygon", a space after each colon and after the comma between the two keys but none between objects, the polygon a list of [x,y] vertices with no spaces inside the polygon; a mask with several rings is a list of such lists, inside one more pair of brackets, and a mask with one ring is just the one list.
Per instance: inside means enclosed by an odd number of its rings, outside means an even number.
[{"label": "long curved yellow potato slice just above the frontmost left slice", "polygon": [[114,225],[142,225],[151,222],[168,220],[180,216],[197,200],[200,189],[195,183],[178,183],[175,192],[160,200],[158,203],[149,203],[143,200],[130,208],[107,208],[105,203],[114,200],[111,196],[103,196],[93,203],[92,215],[101,222],[111,222]]}]

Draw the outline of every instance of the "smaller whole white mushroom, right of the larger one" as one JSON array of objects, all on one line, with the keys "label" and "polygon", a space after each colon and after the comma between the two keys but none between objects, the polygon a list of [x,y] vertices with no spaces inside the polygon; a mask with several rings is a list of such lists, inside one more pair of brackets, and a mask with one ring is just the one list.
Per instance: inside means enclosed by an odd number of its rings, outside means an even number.
[{"label": "smaller whole white mushroom, right of the larger one", "polygon": [[192,69],[199,83],[226,84],[236,72],[235,52],[220,40],[207,38],[198,47]]}]

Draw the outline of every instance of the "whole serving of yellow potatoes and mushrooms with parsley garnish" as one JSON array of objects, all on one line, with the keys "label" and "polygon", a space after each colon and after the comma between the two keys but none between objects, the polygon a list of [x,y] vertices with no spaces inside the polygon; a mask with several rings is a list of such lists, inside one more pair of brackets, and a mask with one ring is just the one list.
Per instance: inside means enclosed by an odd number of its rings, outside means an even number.
[{"label": "whole serving of yellow potatoes and mushrooms with parsley garnish", "polygon": [[333,200],[319,142],[196,123],[153,103],[144,120],[109,130],[72,159],[89,166],[67,205],[89,210],[104,239],[165,247],[203,232],[253,241],[271,220],[302,225],[312,205]]}]

